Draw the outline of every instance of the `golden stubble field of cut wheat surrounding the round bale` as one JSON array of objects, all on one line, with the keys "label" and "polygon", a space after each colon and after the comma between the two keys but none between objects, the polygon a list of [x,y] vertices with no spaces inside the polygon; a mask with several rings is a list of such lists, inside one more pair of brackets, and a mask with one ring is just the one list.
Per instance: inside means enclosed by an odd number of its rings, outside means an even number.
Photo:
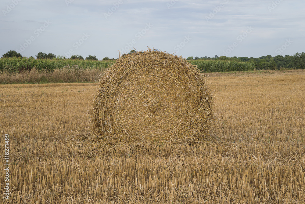
[{"label": "golden stubble field of cut wheat surrounding the round bale", "polygon": [[201,144],[86,146],[97,83],[0,85],[0,203],[305,203],[305,71],[207,75]]}]

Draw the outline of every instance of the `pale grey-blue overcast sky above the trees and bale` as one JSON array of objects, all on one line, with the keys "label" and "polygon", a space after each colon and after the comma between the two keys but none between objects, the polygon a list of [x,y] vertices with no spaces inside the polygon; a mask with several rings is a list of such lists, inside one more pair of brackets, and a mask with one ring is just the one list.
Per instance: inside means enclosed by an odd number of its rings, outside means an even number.
[{"label": "pale grey-blue overcast sky above the trees and bale", "polygon": [[130,49],[188,56],[305,52],[304,0],[1,0],[0,56],[16,50],[117,58]]}]

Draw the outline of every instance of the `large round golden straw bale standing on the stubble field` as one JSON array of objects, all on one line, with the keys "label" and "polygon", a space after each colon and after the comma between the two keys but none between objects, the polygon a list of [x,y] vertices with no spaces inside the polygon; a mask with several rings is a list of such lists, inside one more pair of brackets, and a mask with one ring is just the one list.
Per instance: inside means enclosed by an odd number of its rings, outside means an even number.
[{"label": "large round golden straw bale standing on the stubble field", "polygon": [[99,79],[91,142],[199,142],[213,120],[212,106],[204,75],[184,58],[131,53]]}]

